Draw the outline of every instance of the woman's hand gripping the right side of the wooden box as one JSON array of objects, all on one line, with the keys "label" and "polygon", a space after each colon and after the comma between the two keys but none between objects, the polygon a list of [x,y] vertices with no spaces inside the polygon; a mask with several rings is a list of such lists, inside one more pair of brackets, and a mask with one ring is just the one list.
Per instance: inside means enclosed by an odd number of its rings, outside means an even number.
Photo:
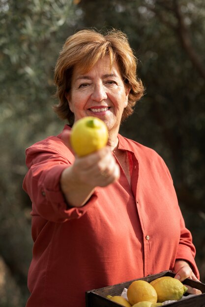
[{"label": "woman's hand gripping the right side of the wooden box", "polygon": [[[174,266],[174,272],[176,273],[175,278],[179,281],[184,281],[186,278],[190,278],[194,281],[199,281],[192,271],[190,265],[185,260],[176,260]],[[199,281],[200,282],[200,281]],[[186,285],[190,294],[201,294],[202,292],[198,289],[192,288]]]}]

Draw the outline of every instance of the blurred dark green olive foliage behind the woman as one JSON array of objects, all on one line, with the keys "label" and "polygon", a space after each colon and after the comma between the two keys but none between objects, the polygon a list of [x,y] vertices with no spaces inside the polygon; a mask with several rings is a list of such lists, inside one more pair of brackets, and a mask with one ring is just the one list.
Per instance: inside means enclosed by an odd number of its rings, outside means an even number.
[{"label": "blurred dark green olive foliage behind the woman", "polygon": [[64,126],[52,111],[54,67],[84,27],[129,38],[146,95],[120,132],[167,163],[205,282],[205,1],[0,0],[1,307],[24,307],[29,296],[25,149]]}]

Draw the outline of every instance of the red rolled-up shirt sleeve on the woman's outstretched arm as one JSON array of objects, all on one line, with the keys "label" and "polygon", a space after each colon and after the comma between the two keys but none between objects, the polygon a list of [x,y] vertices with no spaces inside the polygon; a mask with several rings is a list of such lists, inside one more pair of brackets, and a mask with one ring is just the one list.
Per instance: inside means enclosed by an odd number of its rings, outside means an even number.
[{"label": "red rolled-up shirt sleeve on the woman's outstretched arm", "polygon": [[[64,144],[59,145],[61,147],[58,146],[58,150],[48,148],[45,144],[27,150],[29,171],[23,189],[32,202],[31,215],[40,215],[46,220],[62,223],[83,216],[92,202],[88,201],[83,207],[67,205],[60,188],[60,177],[63,170],[72,164],[74,157]],[[93,194],[90,200],[95,197],[96,194]]]}]

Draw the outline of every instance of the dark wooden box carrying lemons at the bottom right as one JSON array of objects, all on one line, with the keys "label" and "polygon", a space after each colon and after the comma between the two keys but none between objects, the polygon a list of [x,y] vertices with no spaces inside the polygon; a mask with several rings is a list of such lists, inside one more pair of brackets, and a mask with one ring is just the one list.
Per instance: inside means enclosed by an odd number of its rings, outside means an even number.
[{"label": "dark wooden box carrying lemons at the bottom right", "polygon": [[[139,278],[140,280],[144,281],[153,281],[159,277],[162,276],[171,276],[174,277],[175,274],[172,273],[171,271],[164,271],[159,274],[154,274],[154,275],[149,275],[146,276],[145,278]],[[134,281],[134,280],[132,280]],[[124,288],[128,288],[130,283],[132,281],[125,281],[122,283],[118,283],[112,286],[107,286],[104,288],[100,289],[94,289],[86,292],[86,307],[117,307],[121,306],[117,303],[114,303],[107,299],[107,295],[121,295],[122,291]],[[193,288],[197,288],[202,291],[202,294],[192,296],[190,298],[184,299],[184,300],[179,300],[175,303],[169,303],[164,306],[186,306],[186,307],[205,307],[205,283],[193,281],[189,278],[187,278],[185,281],[183,281],[184,284],[190,285]]]}]

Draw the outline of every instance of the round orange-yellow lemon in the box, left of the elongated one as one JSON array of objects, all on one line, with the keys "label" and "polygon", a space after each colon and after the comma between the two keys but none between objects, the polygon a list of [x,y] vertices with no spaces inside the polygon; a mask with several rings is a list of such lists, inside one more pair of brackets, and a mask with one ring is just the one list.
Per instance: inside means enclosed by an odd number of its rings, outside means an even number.
[{"label": "round orange-yellow lemon in the box, left of the elongated one", "polygon": [[127,289],[127,298],[131,305],[138,302],[157,302],[157,293],[154,287],[147,281],[133,281]]}]

